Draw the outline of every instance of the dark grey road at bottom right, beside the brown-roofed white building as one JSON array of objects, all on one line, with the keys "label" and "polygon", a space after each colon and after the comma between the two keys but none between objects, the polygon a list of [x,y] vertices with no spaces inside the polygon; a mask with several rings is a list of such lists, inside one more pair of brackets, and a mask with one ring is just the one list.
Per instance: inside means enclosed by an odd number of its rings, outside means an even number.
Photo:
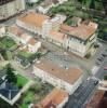
[{"label": "dark grey road at bottom right, beside the brown-roofed white building", "polygon": [[91,92],[97,86],[94,79],[85,81],[82,85],[69,97],[69,102],[65,108],[83,108]]}]

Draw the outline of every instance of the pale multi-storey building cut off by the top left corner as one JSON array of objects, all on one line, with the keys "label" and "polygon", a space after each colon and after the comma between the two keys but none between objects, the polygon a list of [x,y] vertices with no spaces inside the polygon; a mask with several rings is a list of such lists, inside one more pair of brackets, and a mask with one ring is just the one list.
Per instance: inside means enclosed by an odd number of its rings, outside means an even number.
[{"label": "pale multi-storey building cut off by the top left corner", "polygon": [[0,0],[0,21],[25,10],[25,0]]}]

